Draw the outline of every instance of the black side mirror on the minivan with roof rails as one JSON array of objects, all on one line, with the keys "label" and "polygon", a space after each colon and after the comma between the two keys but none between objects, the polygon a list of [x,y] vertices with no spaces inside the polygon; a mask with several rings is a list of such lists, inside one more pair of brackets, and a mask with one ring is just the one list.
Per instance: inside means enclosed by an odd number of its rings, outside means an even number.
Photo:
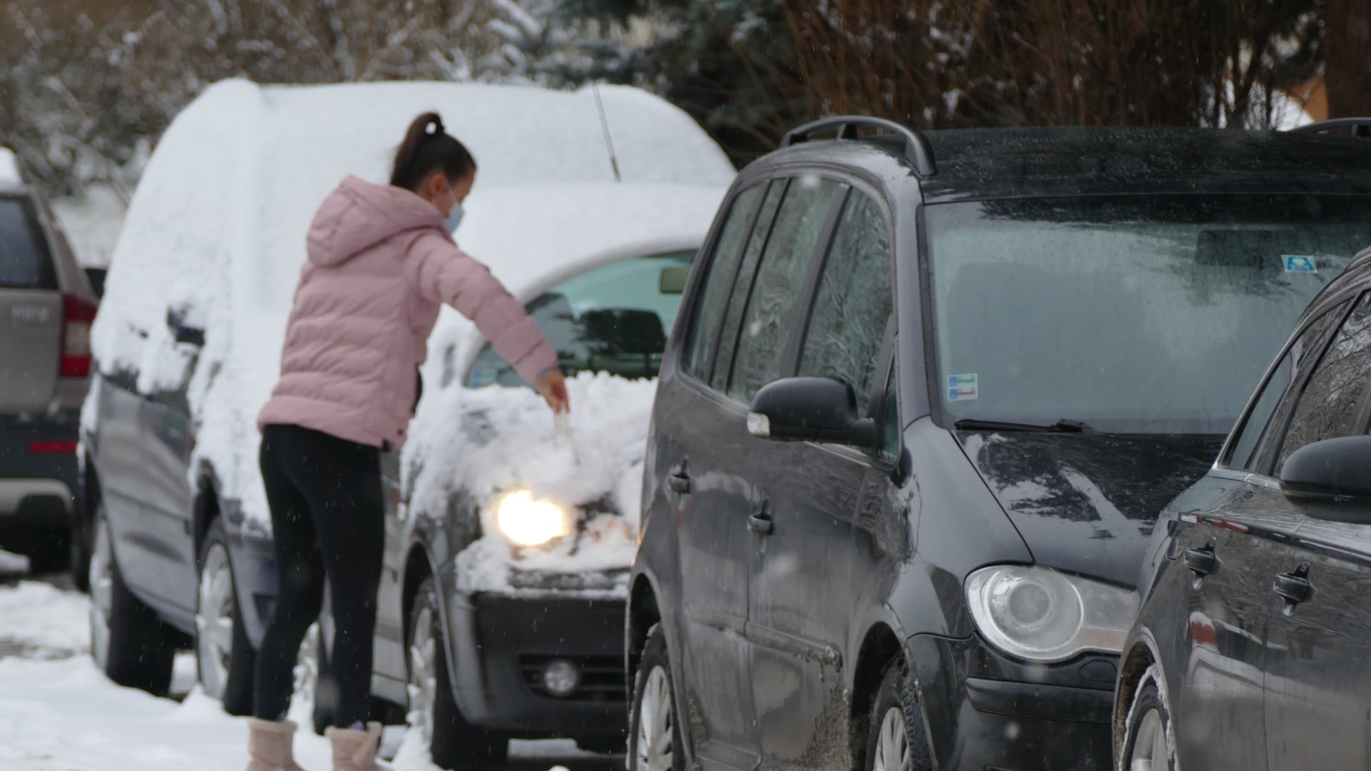
[{"label": "black side mirror on the minivan with roof rails", "polygon": [[777,380],[753,398],[747,431],[780,442],[876,444],[876,421],[857,416],[853,387],[832,377]]}]

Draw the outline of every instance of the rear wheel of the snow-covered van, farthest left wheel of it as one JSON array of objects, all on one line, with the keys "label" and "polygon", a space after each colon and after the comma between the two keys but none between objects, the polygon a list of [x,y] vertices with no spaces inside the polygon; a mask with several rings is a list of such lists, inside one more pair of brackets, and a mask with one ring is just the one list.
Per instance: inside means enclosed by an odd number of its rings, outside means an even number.
[{"label": "rear wheel of the snow-covered van, farthest left wheel of it", "polygon": [[96,509],[89,582],[90,653],[96,665],[121,686],[166,696],[174,639],[162,619],[125,586],[103,506]]}]

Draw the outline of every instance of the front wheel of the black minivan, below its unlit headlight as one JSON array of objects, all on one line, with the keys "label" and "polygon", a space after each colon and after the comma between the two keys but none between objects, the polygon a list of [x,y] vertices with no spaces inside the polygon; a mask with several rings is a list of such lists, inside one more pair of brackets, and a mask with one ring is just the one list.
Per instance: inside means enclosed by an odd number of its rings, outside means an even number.
[{"label": "front wheel of the black minivan, below its unlit headlight", "polygon": [[919,689],[903,659],[897,659],[886,667],[880,690],[872,700],[865,768],[866,771],[934,768]]}]

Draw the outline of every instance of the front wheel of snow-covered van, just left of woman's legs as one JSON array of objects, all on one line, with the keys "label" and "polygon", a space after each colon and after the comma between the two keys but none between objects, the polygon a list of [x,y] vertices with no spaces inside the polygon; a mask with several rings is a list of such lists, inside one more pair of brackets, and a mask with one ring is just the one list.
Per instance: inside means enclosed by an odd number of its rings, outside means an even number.
[{"label": "front wheel of snow-covered van, just left of woman's legs", "polygon": [[223,702],[229,715],[252,713],[256,652],[243,628],[233,583],[229,538],[215,519],[200,546],[200,578],[195,608],[195,663],[200,687]]}]

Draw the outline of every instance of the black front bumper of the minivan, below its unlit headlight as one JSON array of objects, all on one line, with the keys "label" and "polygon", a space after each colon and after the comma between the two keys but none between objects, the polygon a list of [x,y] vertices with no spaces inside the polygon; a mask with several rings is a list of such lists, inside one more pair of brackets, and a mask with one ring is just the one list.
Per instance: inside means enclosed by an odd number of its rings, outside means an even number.
[{"label": "black front bumper of the minivan, below its unlit headlight", "polygon": [[938,768],[1111,768],[1116,656],[1030,665],[975,637],[914,635],[906,648]]}]

